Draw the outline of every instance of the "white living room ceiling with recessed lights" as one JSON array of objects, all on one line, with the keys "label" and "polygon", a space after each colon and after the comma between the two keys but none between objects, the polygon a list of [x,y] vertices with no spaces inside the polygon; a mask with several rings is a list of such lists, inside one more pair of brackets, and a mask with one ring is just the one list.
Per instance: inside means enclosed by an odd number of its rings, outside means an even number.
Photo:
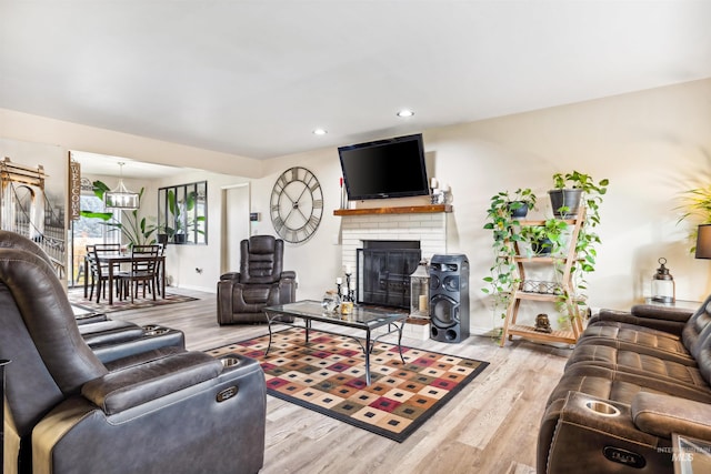
[{"label": "white living room ceiling with recessed lights", "polygon": [[704,0],[0,0],[0,108],[264,159],[709,78],[710,26]]}]

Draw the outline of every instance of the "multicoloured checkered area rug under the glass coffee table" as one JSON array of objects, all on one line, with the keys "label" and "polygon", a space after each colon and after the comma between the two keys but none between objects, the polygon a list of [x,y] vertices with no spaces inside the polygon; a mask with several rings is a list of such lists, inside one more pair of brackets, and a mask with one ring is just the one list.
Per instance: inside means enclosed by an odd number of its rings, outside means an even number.
[{"label": "multicoloured checkered area rug under the glass coffee table", "polygon": [[[403,442],[469,382],[488,362],[375,343],[370,357],[371,384],[365,385],[365,360],[352,337],[312,330],[288,329],[206,351],[214,357],[242,354],[260,361],[267,393],[397,442]],[[364,341],[361,341],[364,344]]]}]

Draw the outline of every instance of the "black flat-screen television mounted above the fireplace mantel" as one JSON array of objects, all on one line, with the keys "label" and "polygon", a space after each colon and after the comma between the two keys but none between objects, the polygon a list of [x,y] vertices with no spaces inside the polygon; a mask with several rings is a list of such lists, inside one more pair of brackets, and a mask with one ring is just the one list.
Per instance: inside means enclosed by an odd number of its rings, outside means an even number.
[{"label": "black flat-screen television mounted above the fireplace mantel", "polygon": [[422,134],[340,147],[348,199],[428,195]]}]

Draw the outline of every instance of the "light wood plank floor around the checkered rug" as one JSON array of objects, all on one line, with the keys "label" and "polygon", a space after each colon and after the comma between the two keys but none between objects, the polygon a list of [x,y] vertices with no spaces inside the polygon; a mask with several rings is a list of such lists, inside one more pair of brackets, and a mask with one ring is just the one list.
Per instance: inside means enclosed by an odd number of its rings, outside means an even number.
[{"label": "light wood plank floor around the checkered rug", "polygon": [[[267,333],[264,325],[219,326],[212,293],[171,290],[200,300],[110,316],[182,330],[190,350]],[[570,350],[522,340],[499,347],[482,336],[459,344],[403,339],[403,344],[490,365],[403,443],[268,396],[261,473],[535,472],[540,418]]]}]

